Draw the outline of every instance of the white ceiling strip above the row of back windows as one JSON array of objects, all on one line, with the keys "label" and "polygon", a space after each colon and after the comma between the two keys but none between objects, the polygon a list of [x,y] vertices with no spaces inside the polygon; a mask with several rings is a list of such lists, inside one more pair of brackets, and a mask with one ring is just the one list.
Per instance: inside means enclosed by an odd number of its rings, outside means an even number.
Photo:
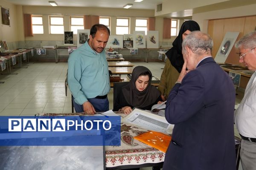
[{"label": "white ceiling strip above the row of back windows", "polygon": [[[23,6],[50,6],[48,0],[6,0],[10,3]],[[53,0],[52,0],[53,1]],[[163,0],[143,0],[140,3],[134,0],[54,0],[58,6],[76,6],[76,7],[105,7],[105,8],[123,8],[127,3],[132,3],[130,9],[155,9],[155,6],[162,3]]]}]

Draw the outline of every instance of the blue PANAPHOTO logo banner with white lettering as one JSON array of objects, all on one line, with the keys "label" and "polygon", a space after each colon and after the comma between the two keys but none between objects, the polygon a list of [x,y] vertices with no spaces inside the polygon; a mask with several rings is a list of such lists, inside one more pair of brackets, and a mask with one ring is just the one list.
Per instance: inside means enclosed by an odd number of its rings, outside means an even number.
[{"label": "blue PANAPHOTO logo banner with white lettering", "polygon": [[120,146],[120,116],[0,116],[0,146]]}]

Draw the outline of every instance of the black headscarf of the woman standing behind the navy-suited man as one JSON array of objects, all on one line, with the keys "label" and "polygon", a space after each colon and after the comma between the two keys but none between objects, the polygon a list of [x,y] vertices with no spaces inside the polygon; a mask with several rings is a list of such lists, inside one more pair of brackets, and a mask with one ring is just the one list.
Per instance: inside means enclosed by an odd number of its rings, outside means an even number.
[{"label": "black headscarf of the woman standing behind the navy-suited man", "polygon": [[185,21],[180,28],[179,35],[172,43],[173,47],[166,52],[166,56],[171,61],[173,67],[175,67],[179,73],[184,64],[184,59],[182,55],[182,42],[183,42],[182,34],[187,30],[200,31],[200,27],[198,23],[195,21],[192,21],[192,20]]}]

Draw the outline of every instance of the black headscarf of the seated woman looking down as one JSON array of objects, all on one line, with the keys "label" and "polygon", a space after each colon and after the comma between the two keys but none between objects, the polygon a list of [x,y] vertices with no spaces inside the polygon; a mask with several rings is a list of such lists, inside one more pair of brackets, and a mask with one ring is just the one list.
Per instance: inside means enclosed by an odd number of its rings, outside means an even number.
[{"label": "black headscarf of the seated woman looking down", "polygon": [[[143,91],[138,91],[135,82],[139,78],[140,74],[148,71],[150,74],[147,87]],[[151,71],[144,66],[137,66],[133,69],[131,74],[131,81],[128,85],[122,88],[122,92],[125,96],[125,100],[129,105],[137,108],[144,108],[156,102],[160,96],[160,92],[153,85],[150,84],[152,79]]]}]

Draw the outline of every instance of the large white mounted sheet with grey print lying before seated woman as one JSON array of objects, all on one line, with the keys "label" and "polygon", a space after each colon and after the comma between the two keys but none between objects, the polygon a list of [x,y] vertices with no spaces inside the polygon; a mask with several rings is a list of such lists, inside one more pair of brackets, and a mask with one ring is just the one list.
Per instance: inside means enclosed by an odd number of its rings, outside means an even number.
[{"label": "large white mounted sheet with grey print lying before seated woman", "polygon": [[165,117],[135,108],[122,122],[139,126],[147,130],[155,130],[163,133],[172,133],[174,125],[169,124]]}]

